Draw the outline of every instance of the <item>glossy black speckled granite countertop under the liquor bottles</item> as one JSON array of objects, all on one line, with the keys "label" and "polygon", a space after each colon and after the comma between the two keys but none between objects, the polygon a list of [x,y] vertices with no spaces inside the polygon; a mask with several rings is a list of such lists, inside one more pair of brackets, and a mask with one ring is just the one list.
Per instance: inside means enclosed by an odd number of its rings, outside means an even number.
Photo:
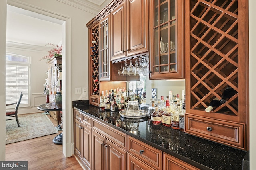
[{"label": "glossy black speckled granite countertop under the liquor bottles", "polygon": [[118,112],[73,104],[73,107],[108,122],[108,125],[202,170],[242,170],[246,151],[188,135],[164,125],[152,125],[147,117],[124,119]]}]

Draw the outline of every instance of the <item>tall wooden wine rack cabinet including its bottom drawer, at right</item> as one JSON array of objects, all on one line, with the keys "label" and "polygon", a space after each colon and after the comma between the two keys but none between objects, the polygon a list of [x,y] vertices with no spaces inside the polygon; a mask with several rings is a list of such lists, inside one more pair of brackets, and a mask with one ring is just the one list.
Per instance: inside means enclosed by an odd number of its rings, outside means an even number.
[{"label": "tall wooden wine rack cabinet including its bottom drawer, at right", "polygon": [[[185,1],[185,131],[243,150],[249,149],[246,9],[246,0]],[[228,87],[234,96],[207,113]]]}]

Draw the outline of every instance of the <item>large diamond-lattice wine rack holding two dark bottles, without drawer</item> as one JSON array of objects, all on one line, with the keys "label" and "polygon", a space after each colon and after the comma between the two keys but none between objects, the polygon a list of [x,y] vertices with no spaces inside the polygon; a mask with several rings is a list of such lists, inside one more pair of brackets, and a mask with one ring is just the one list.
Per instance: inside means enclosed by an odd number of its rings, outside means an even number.
[{"label": "large diamond-lattice wine rack holding two dark bottles, without drawer", "polygon": [[237,93],[213,112],[238,116],[238,36],[237,0],[190,0],[190,109],[230,86]]}]

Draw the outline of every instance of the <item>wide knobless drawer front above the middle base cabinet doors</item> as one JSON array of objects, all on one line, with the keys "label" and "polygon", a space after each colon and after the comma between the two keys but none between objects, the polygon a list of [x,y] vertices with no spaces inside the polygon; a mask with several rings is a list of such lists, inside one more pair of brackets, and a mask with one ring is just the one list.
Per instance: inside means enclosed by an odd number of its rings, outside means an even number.
[{"label": "wide knobless drawer front above the middle base cabinet doors", "polygon": [[107,139],[118,145],[119,147],[127,150],[127,135],[117,129],[114,129],[102,122],[92,119],[92,129],[101,135],[105,136]]}]

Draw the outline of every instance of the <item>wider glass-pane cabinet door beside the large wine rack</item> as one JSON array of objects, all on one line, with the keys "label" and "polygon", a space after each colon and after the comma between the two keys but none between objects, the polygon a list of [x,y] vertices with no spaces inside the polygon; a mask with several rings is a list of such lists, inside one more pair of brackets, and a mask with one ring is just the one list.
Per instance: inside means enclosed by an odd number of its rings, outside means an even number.
[{"label": "wider glass-pane cabinet door beside the large wine rack", "polygon": [[184,78],[183,7],[183,0],[151,0],[150,79]]}]

